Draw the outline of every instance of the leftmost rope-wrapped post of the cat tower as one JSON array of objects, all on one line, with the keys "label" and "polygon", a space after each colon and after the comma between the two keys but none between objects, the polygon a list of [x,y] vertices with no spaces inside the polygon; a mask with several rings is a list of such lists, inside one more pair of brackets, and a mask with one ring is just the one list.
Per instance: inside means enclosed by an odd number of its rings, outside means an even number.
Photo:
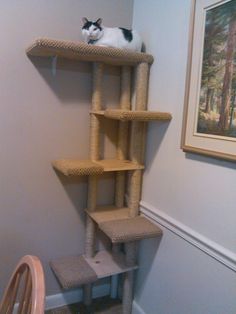
[{"label": "leftmost rope-wrapped post of the cat tower", "polygon": [[[102,63],[93,64],[93,94],[92,110],[97,111],[102,108],[102,81],[104,65]],[[90,159],[93,161],[100,159],[100,121],[95,114],[90,117]],[[97,176],[88,177],[88,211],[94,211],[97,204]],[[87,215],[86,219],[86,240],[85,256],[93,257],[95,253],[95,222]],[[84,303],[89,306],[92,303],[92,284],[84,286]]]}]

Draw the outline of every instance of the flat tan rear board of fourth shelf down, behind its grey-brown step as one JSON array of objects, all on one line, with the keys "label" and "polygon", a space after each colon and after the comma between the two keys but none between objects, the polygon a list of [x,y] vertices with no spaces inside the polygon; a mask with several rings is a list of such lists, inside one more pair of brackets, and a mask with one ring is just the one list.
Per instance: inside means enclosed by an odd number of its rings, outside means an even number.
[{"label": "flat tan rear board of fourth shelf down, behind its grey-brown step", "polygon": [[128,207],[117,208],[115,206],[99,206],[95,211],[87,214],[97,223],[103,223],[111,220],[128,219],[130,209]]}]

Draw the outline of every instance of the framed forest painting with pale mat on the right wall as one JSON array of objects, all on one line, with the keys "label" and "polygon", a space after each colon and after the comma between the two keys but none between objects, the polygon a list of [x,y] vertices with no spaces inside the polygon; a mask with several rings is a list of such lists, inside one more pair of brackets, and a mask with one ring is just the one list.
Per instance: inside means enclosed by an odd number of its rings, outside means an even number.
[{"label": "framed forest painting with pale mat on the right wall", "polygon": [[236,161],[236,0],[194,0],[182,149]]}]

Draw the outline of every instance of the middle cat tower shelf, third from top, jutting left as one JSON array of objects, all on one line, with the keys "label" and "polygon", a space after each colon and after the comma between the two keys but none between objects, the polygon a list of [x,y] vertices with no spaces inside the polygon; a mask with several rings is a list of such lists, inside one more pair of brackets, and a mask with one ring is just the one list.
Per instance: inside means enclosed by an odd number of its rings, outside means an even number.
[{"label": "middle cat tower shelf, third from top, jutting left", "polygon": [[59,159],[53,167],[65,176],[100,175],[103,172],[143,169],[144,166],[130,160],[104,159],[99,161]]}]

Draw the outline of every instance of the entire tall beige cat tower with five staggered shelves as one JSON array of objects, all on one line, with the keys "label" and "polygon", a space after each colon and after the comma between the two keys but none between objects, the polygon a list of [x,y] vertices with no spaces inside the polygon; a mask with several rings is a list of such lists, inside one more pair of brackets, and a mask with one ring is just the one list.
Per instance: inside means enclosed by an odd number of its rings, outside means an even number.
[{"label": "entire tall beige cat tower with five staggered shelves", "polygon": [[[85,254],[63,257],[50,264],[64,289],[84,285],[84,303],[88,307],[92,302],[92,283],[111,276],[111,296],[114,297],[118,287],[117,275],[123,273],[122,313],[129,314],[132,311],[134,271],[138,267],[138,241],[162,234],[155,224],[139,214],[146,122],[171,119],[169,113],[147,111],[149,67],[153,57],[46,38],[37,39],[26,52],[29,56],[58,56],[93,63],[89,159],[60,159],[53,162],[53,167],[65,176],[88,176]],[[121,69],[120,105],[117,109],[103,107],[105,64]],[[136,83],[132,106],[131,72],[134,68]],[[101,117],[119,121],[115,159],[101,159],[101,123],[104,121]],[[97,204],[98,182],[104,172],[112,172],[115,177],[114,203],[110,206]],[[128,205],[125,204],[126,198]],[[97,251],[95,241],[98,229],[110,239],[109,250]]]}]

